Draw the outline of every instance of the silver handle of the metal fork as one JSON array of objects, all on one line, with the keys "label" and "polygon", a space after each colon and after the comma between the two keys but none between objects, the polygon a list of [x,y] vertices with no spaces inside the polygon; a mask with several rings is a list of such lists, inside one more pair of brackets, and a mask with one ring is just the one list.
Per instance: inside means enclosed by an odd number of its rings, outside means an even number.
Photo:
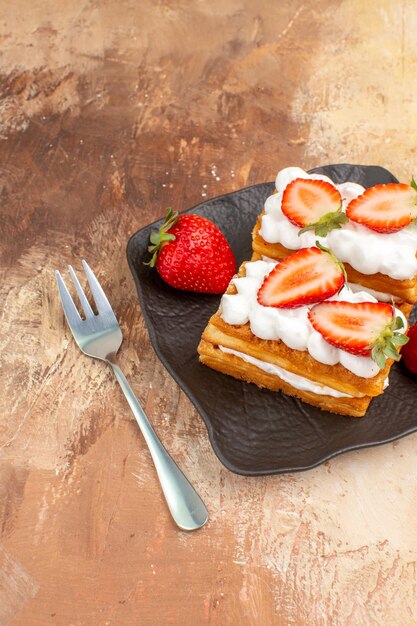
[{"label": "silver handle of the metal fork", "polygon": [[208,520],[204,502],[160,442],[120,367],[112,361],[108,363],[113,368],[148,444],[172,517],[183,530],[201,528]]}]

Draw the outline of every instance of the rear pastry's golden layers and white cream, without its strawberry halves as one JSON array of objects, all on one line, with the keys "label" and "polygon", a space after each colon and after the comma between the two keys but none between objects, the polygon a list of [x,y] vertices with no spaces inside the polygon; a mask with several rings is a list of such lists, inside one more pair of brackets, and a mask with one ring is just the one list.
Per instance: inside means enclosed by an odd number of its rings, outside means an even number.
[{"label": "rear pastry's golden layers and white cream, without its strawberry halves", "polygon": [[297,178],[323,180],[340,193],[342,211],[365,189],[356,183],[334,184],[328,177],[307,174],[298,167],[281,170],[276,191],[267,198],[264,210],[253,229],[253,251],[261,257],[282,260],[294,250],[320,243],[330,248],[345,265],[348,280],[378,293],[378,299],[417,301],[417,224],[415,221],[398,232],[380,233],[362,224],[347,221],[341,228],[318,236],[310,230],[300,234],[282,211],[283,194]]}]

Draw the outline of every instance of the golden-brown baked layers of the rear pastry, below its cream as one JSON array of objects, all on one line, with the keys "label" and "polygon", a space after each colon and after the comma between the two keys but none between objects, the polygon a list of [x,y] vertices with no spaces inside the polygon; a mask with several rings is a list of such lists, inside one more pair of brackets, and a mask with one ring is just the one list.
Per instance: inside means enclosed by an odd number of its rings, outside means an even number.
[{"label": "golden-brown baked layers of the rear pastry, below its cream", "polygon": [[[267,256],[277,261],[285,259],[285,257],[292,254],[294,250],[289,250],[280,243],[267,243],[262,239],[259,230],[261,228],[263,215],[264,213],[261,213],[252,232],[253,251],[261,257]],[[381,251],[381,254],[383,254],[383,251]],[[351,267],[349,263],[344,263],[344,266],[349,282],[358,283],[359,285],[374,289],[375,291],[389,293],[404,302],[411,304],[417,302],[417,275],[410,280],[395,280],[379,272],[377,274],[362,274]]]}]

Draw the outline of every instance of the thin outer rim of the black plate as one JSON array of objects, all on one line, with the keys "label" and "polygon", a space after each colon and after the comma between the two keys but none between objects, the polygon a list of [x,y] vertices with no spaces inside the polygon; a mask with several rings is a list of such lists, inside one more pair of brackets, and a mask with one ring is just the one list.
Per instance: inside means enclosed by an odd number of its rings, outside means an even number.
[{"label": "thin outer rim of the black plate", "polygon": [[[322,165],[322,166],[318,166],[315,168],[312,168],[310,170],[308,170],[308,173],[314,173],[316,172],[316,170],[322,169],[323,167],[337,167],[337,166],[343,166],[343,165],[349,165],[349,166],[358,166],[358,167],[362,167],[362,168],[368,168],[368,167],[372,167],[372,168],[379,168],[381,170],[384,170],[385,172],[387,172],[390,176],[394,176],[389,170],[387,170],[385,167],[379,166],[379,165],[360,165],[360,164],[350,164],[350,163],[338,163],[338,164],[328,164],[326,165]],[[395,177],[394,177],[395,178]],[[180,214],[185,214],[185,213],[191,213],[193,211],[195,211],[196,209],[198,209],[201,206],[204,206],[207,204],[207,202],[209,201],[217,201],[217,200],[222,200],[225,197],[230,197],[233,196],[235,194],[241,193],[243,191],[247,191],[248,189],[254,189],[256,187],[260,187],[260,186],[264,186],[264,185],[268,185],[268,184],[274,184],[275,181],[265,181],[265,182],[261,182],[261,183],[255,183],[254,185],[248,185],[247,187],[243,187],[241,189],[237,189],[235,191],[231,191],[225,194],[220,194],[219,196],[214,196],[212,198],[207,198],[206,200],[204,200],[204,202],[199,202],[198,204],[188,208],[188,209],[184,209],[182,211],[179,211]],[[133,259],[132,257],[134,256],[133,251],[132,251],[132,246],[133,246],[133,240],[138,237],[138,235],[140,235],[141,233],[143,233],[143,231],[145,230],[150,230],[152,229],[153,226],[155,226],[156,224],[159,224],[164,218],[161,217],[157,220],[155,220],[154,222],[151,222],[150,224],[146,224],[145,226],[143,226],[142,228],[139,228],[136,232],[134,232],[128,239],[127,244],[126,244],[126,257],[127,257],[127,262],[129,265],[129,269],[130,272],[132,274],[134,283],[135,283],[135,287],[136,287],[136,292],[137,292],[137,296],[139,299],[139,304],[141,307],[141,311],[142,311],[142,315],[143,315],[143,319],[145,321],[146,324],[146,328],[149,334],[149,338],[151,341],[151,345],[158,357],[158,359],[160,360],[160,362],[162,363],[162,365],[164,366],[164,368],[168,371],[168,373],[172,376],[172,378],[174,379],[174,381],[177,383],[177,385],[180,387],[180,389],[185,393],[185,395],[190,399],[190,401],[192,402],[192,404],[194,405],[194,407],[196,408],[197,412],[199,413],[200,417],[202,418],[204,425],[207,429],[207,434],[208,434],[208,438],[209,438],[209,442],[210,445],[215,453],[215,455],[217,456],[217,458],[219,459],[219,461],[224,465],[224,467],[226,467],[226,469],[228,469],[229,471],[233,472],[234,474],[238,474],[240,476],[251,476],[251,477],[256,477],[256,476],[273,476],[273,475],[277,475],[277,474],[292,474],[292,473],[298,473],[298,472],[304,472],[304,471],[308,471],[311,469],[314,469],[316,467],[318,467],[319,465],[322,465],[323,463],[326,463],[326,461],[329,461],[330,459],[333,459],[341,454],[345,454],[346,452],[352,452],[354,450],[362,450],[362,449],[366,449],[366,448],[374,448],[377,446],[382,446],[384,444],[387,443],[392,443],[393,441],[398,441],[399,439],[402,439],[403,437],[407,437],[408,435],[411,435],[412,433],[417,431],[417,422],[416,425],[414,427],[411,427],[410,429],[398,434],[398,435],[392,435],[388,438],[384,438],[384,439],[380,439],[378,441],[371,441],[371,442],[363,442],[363,443],[359,443],[359,444],[352,444],[352,445],[348,445],[346,447],[343,448],[339,448],[338,450],[335,450],[333,452],[330,452],[324,456],[320,456],[319,459],[317,459],[317,461],[314,461],[313,463],[309,463],[306,465],[301,465],[301,466],[297,466],[297,467],[280,467],[280,468],[275,468],[275,469],[264,469],[264,470],[257,470],[257,471],[250,471],[250,470],[245,470],[242,469],[236,465],[234,465],[233,463],[231,463],[227,457],[224,456],[223,452],[221,451],[221,449],[218,447],[217,442],[216,442],[216,438],[214,436],[214,428],[208,418],[208,416],[206,415],[206,412],[204,411],[204,409],[202,408],[202,406],[200,405],[197,397],[194,395],[194,393],[192,393],[188,388],[186,388],[185,384],[182,383],[180,377],[176,374],[176,372],[173,370],[173,368],[171,367],[171,365],[168,363],[168,361],[166,360],[165,356],[162,353],[162,350],[159,346],[159,341],[158,341],[158,335],[155,332],[155,329],[153,327],[153,324],[151,323],[150,317],[148,315],[148,312],[146,310],[145,307],[145,299],[143,297],[143,293],[142,293],[142,289],[140,287],[140,281],[139,281],[139,277],[138,274],[136,272],[134,263],[133,263]],[[337,415],[334,416],[335,419],[338,418]],[[352,419],[362,419],[362,418],[352,418]]]}]

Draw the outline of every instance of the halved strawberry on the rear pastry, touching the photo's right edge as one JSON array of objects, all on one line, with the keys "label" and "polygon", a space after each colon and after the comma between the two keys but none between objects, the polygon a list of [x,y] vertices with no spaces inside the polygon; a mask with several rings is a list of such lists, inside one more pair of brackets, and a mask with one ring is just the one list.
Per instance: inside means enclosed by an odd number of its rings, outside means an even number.
[{"label": "halved strawberry on the rear pastry, touching the photo's right edge", "polygon": [[375,185],[352,200],[346,215],[378,233],[395,233],[417,217],[417,187],[390,183]]}]

